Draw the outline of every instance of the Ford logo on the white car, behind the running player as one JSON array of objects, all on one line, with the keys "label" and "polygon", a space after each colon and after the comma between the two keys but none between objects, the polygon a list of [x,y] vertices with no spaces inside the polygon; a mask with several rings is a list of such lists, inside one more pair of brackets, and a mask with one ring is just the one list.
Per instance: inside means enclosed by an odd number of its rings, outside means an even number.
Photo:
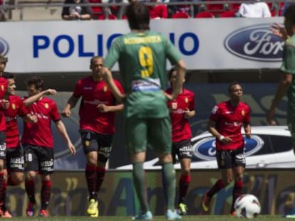
[{"label": "Ford logo on the white car, behind the running player", "polygon": [[[264,141],[257,135],[251,136],[250,139],[245,138],[245,156],[251,156],[264,146]],[[215,159],[216,145],[215,138],[210,136],[197,141],[192,146],[192,155],[205,161]]]}]

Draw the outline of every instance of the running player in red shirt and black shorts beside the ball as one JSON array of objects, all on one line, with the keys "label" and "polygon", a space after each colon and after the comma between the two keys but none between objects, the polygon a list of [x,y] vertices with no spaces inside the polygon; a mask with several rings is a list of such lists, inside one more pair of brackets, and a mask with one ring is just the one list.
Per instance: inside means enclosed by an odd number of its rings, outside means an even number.
[{"label": "running player in red shirt and black shorts beside the ball", "polygon": [[209,117],[208,130],[216,137],[216,158],[222,178],[205,193],[202,207],[209,210],[212,196],[234,180],[232,192],[232,208],[230,213],[235,215],[234,201],[242,195],[244,168],[244,138],[251,137],[250,109],[242,102],[243,90],[238,82],[232,82],[228,87],[229,100],[213,107]]}]

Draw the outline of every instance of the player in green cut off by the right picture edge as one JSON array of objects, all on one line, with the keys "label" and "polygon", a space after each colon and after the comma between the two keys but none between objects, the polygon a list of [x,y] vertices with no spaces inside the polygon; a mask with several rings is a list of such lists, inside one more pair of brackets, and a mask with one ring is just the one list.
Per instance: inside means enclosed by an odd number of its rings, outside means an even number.
[{"label": "player in green cut off by the right picture edge", "polygon": [[[295,5],[291,5],[286,9],[284,13],[284,26],[285,29],[278,28],[282,38],[286,38],[283,63],[281,65],[281,79],[267,114],[267,122],[272,125],[276,124],[274,121],[276,107],[282,97],[287,94],[287,124],[291,132],[292,146],[295,154]],[[294,205],[294,202],[290,205]],[[286,212],[286,217],[295,217],[295,207],[290,207],[289,211]]]}]

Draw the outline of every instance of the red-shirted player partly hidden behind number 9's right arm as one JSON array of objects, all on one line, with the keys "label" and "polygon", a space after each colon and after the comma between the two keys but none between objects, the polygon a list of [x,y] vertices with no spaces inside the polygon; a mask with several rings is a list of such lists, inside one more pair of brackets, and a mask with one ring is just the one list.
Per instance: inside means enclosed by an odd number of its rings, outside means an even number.
[{"label": "red-shirted player partly hidden behind number 9's right arm", "polygon": [[[172,94],[172,87],[177,75],[176,68],[169,72],[171,88],[167,89],[167,94]],[[190,163],[192,159],[192,131],[188,119],[195,116],[195,95],[190,90],[182,87],[180,94],[175,99],[168,102],[170,118],[172,124],[172,157],[176,162],[176,156],[181,165],[181,176],[178,182],[178,210],[181,215],[187,215],[187,205],[185,196],[190,185]]]}]

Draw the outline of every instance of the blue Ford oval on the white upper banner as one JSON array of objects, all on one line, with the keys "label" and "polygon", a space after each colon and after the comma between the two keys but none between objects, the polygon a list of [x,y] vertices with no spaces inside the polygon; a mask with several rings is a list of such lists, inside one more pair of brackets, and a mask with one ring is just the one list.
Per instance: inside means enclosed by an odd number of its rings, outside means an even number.
[{"label": "blue Ford oval on the white upper banner", "polygon": [[284,41],[269,30],[270,24],[248,26],[230,33],[224,47],[234,55],[249,60],[281,61]]}]

